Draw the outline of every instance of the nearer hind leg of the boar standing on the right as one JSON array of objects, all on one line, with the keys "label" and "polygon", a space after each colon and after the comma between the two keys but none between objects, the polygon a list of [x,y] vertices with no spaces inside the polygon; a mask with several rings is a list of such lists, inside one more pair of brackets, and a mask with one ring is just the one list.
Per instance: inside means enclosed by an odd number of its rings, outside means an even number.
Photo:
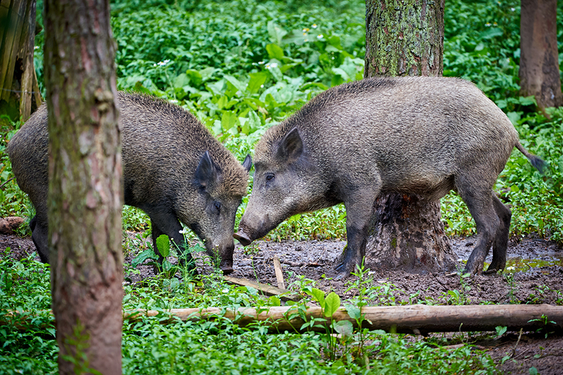
[{"label": "nearer hind leg of the boar standing on the right", "polygon": [[501,226],[501,220],[498,218],[493,205],[492,190],[468,190],[470,191],[464,191],[458,187],[459,195],[466,202],[471,216],[475,220],[477,241],[469,256],[465,271],[470,274],[481,274],[485,257],[489,252],[499,226]]}]

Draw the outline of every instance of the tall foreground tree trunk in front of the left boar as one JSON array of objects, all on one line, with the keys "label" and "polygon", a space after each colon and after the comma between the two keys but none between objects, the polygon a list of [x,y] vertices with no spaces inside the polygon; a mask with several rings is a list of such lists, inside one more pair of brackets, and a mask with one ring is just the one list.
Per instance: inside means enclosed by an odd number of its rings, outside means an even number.
[{"label": "tall foreground tree trunk in front of the left boar", "polygon": [[108,0],[45,1],[49,249],[60,374],[121,374],[122,159]]}]

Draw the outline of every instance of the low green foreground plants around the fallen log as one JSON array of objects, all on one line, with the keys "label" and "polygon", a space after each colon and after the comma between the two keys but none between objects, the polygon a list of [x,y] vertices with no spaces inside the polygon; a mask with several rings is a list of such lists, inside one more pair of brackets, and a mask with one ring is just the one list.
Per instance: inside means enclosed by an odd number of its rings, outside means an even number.
[{"label": "low green foreground plants around the fallen log", "polygon": [[[1,258],[0,268],[0,370],[3,374],[53,374],[58,348],[49,313],[49,267],[24,258]],[[314,287],[312,280],[298,279],[291,287],[303,300],[292,308],[306,310],[317,302],[325,317],[343,306],[355,319],[359,308],[380,295],[367,272],[349,283],[356,295],[341,303]],[[389,304],[393,304],[388,301]],[[148,278],[142,284],[124,285],[124,312],[135,309],[160,311],[124,323],[122,353],[124,374],[494,374],[490,356],[470,344],[448,348],[450,341],[420,339],[384,331],[352,330],[334,324],[326,332],[268,333],[257,324],[242,328],[220,316],[200,322],[168,322],[174,308],[223,306],[267,310],[279,306],[279,298],[266,298],[251,287],[227,285],[217,274],[167,284]],[[15,317],[9,312],[16,311]],[[21,314],[27,319],[23,319]],[[303,327],[319,324],[312,320]],[[303,328],[301,327],[301,328]],[[299,327],[297,327],[299,328]],[[341,336],[335,337],[332,332]]]}]

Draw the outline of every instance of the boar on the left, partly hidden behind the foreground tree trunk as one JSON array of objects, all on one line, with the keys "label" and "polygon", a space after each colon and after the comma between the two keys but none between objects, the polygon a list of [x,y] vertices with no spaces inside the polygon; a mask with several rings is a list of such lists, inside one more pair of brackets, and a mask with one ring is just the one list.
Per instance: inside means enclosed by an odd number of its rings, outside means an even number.
[{"label": "boar on the left, partly hidden behind the foreground tree trunk", "polygon": [[[161,234],[183,250],[182,222],[205,241],[209,256],[220,257],[223,271],[232,272],[235,214],[246,194],[250,156],[240,165],[196,117],[179,106],[128,93],[119,93],[117,106],[124,202],[150,217],[154,250]],[[30,226],[44,263],[49,262],[48,138],[47,107],[41,106],[8,144],[16,180],[36,208]],[[186,257],[192,259],[190,254]]]}]

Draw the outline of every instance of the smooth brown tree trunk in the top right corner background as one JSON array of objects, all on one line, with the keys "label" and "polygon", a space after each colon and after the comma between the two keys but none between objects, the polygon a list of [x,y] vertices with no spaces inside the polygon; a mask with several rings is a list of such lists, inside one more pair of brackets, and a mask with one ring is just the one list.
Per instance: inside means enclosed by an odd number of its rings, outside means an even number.
[{"label": "smooth brown tree trunk in the top right corner background", "polygon": [[557,0],[522,0],[520,14],[520,95],[541,109],[562,106]]}]

